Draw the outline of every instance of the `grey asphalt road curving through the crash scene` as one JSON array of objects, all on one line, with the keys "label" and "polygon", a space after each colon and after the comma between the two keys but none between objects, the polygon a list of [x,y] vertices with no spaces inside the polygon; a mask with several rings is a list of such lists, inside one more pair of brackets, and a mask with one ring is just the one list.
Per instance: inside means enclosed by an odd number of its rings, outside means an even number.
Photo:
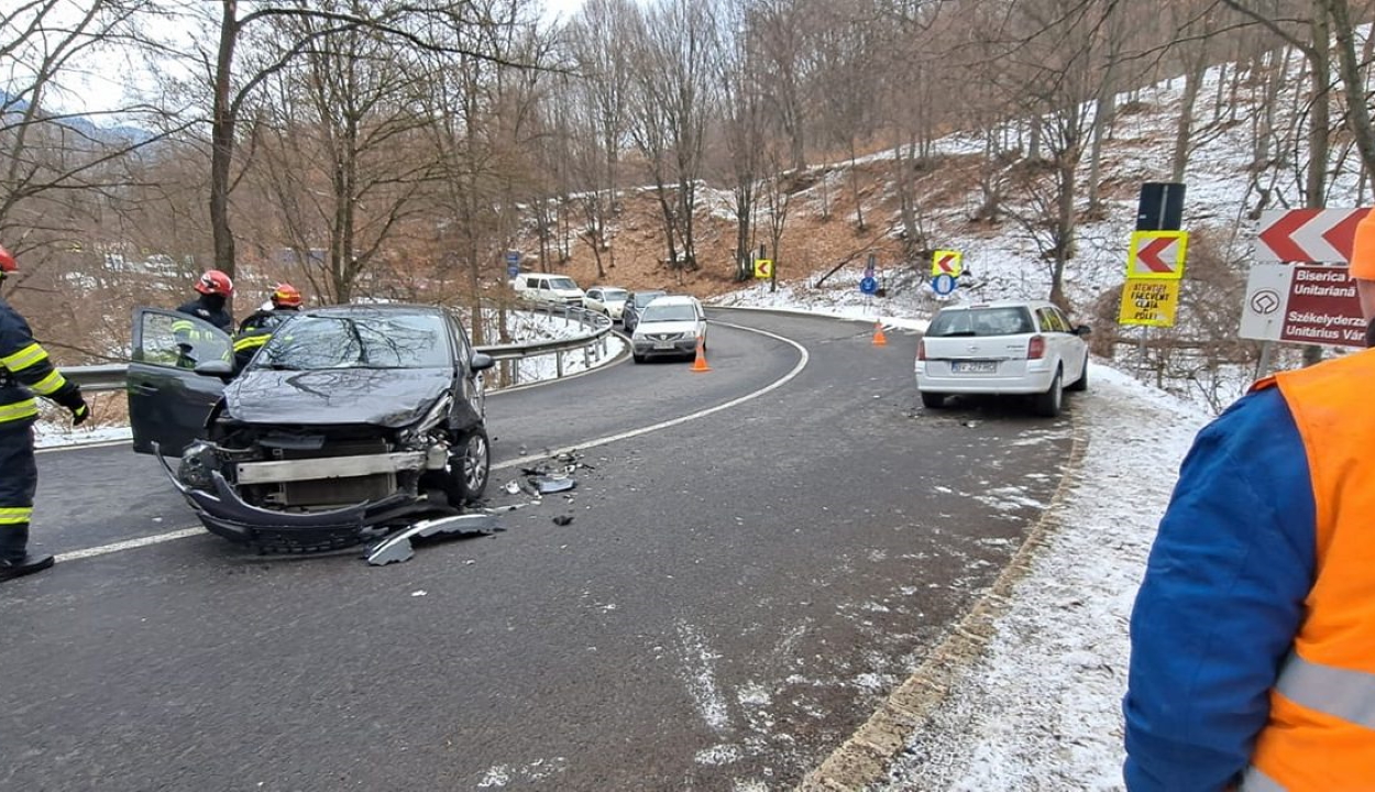
[{"label": "grey asphalt road curving through the crash scene", "polygon": [[[0,788],[791,786],[998,575],[1070,421],[923,412],[902,333],[711,319],[710,373],[491,396],[491,502],[522,506],[406,564],[109,551],[194,518],[128,446],[40,455],[65,557],[0,587]],[[502,491],[565,447],[571,496]]]}]

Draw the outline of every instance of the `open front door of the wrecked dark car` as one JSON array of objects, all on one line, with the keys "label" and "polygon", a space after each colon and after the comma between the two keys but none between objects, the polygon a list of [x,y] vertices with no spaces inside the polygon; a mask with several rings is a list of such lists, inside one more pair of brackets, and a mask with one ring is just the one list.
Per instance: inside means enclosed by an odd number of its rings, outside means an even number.
[{"label": "open front door of the wrecked dark car", "polygon": [[[133,450],[180,456],[205,432],[210,408],[232,371],[230,336],[187,314],[135,308],[129,360],[129,425]],[[198,373],[199,370],[199,373]]]}]

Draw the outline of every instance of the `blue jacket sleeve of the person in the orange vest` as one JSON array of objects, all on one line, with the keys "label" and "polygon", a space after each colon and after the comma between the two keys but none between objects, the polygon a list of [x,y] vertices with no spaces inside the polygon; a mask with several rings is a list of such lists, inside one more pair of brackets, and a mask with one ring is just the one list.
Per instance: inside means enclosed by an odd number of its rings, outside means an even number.
[{"label": "blue jacket sleeve of the person in the orange vest", "polygon": [[1316,520],[1277,388],[1195,439],[1132,612],[1130,792],[1222,789],[1247,766],[1313,586]]}]

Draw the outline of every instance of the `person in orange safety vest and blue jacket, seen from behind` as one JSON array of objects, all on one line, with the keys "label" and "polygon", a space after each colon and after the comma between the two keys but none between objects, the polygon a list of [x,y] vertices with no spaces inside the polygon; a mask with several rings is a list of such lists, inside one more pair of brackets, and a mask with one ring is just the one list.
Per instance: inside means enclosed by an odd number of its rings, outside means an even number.
[{"label": "person in orange safety vest and blue jacket, seen from behind", "polygon": [[[1375,212],[1349,270],[1375,344]],[[1284,371],[1184,459],[1132,612],[1130,792],[1375,789],[1375,349]]]}]

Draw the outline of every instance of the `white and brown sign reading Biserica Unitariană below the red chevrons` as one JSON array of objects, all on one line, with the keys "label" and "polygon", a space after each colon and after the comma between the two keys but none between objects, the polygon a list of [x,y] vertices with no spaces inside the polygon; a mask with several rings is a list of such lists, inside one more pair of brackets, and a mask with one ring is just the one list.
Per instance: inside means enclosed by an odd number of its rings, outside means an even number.
[{"label": "white and brown sign reading Biserica Unitarian\u0103 below the red chevrons", "polygon": [[1242,338],[1365,346],[1356,282],[1339,267],[1253,264],[1242,304]]}]

